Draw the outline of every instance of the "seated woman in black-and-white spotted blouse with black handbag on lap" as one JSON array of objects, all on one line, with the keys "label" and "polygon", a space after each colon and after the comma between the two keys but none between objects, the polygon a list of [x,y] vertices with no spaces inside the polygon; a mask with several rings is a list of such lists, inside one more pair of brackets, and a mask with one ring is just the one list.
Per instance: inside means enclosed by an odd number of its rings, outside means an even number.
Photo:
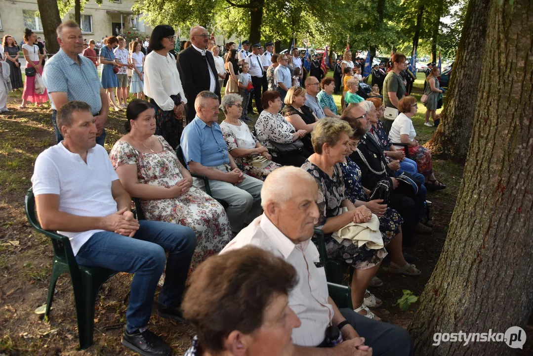
[{"label": "seated woman in black-and-white spotted blouse with black handbag on lap", "polygon": [[272,161],[281,165],[294,165],[300,167],[311,152],[305,148],[281,154],[275,144],[288,145],[297,140],[301,140],[307,134],[305,130],[294,128],[285,117],[279,114],[282,102],[281,96],[277,91],[267,90],[261,97],[263,111],[255,122],[256,137],[261,143],[269,149],[272,155]]}]

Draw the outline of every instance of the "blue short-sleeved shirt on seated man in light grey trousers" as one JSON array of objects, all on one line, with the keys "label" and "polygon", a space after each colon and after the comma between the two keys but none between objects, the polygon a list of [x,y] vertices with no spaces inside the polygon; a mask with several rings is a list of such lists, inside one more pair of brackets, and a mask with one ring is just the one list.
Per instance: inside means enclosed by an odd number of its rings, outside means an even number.
[{"label": "blue short-sleeved shirt on seated man in light grey trousers", "polygon": [[181,149],[185,162],[198,162],[206,167],[229,164],[228,146],[219,124],[211,126],[196,116],[181,134]]}]

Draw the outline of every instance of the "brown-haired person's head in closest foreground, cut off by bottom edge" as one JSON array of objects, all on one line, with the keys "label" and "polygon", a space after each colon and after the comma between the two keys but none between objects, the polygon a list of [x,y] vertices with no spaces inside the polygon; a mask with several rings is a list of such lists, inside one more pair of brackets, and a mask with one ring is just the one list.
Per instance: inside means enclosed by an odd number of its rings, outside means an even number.
[{"label": "brown-haired person's head in closest foreground, cut off by bottom edge", "polygon": [[295,353],[292,330],[301,322],[288,294],[298,275],[283,258],[247,246],[209,258],[190,281],[182,309],[196,336],[184,356]]}]

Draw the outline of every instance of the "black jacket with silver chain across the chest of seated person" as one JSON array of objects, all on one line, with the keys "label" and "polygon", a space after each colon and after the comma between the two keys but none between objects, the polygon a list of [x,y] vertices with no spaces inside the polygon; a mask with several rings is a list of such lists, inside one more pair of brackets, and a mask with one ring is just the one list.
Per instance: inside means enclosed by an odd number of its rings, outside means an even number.
[{"label": "black jacket with silver chain across the chest of seated person", "polygon": [[[366,162],[361,158],[359,153],[365,157]],[[391,184],[390,186],[392,187],[392,180],[390,177],[393,177],[393,173],[387,165],[387,161],[383,155],[383,150],[381,147],[379,147],[371,135],[361,137],[359,145],[357,146],[357,151],[354,151],[350,155],[350,158],[352,161],[356,162],[361,169],[362,186],[372,191],[376,187],[378,181],[385,179],[389,180],[389,183]],[[372,171],[374,170],[376,172],[382,172],[383,167],[385,167],[385,172],[379,175]]]}]

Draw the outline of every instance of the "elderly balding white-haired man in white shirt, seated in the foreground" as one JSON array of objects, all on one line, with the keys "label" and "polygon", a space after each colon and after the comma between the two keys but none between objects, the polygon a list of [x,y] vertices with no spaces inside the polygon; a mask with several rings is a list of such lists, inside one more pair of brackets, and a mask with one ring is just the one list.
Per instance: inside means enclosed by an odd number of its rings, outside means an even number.
[{"label": "elderly balding white-haired man in white shirt, seated in the foreground", "polygon": [[[300,281],[289,294],[289,307],[302,321],[293,329],[295,355],[329,355],[326,328],[338,327],[344,342],[336,355],[413,354],[406,330],[364,317],[348,308],[339,310],[328,296],[326,274],[310,241],[319,216],[318,187],[301,168],[281,167],[265,179],[261,190],[263,215],[244,228],[221,252],[252,244],[285,258]],[[370,346],[370,349],[368,348]]]}]

